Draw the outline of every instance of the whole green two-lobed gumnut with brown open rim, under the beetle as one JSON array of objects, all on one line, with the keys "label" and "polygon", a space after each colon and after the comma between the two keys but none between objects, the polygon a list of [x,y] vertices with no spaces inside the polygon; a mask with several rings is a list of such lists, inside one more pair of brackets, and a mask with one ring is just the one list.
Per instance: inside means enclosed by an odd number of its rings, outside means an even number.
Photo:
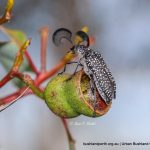
[{"label": "whole green two-lobed gumnut with brown open rim, under the beetle", "polygon": [[[45,89],[45,101],[48,107],[60,117],[72,118],[79,115],[93,117],[90,79],[84,71],[77,72],[70,80],[69,74],[54,77]],[[97,92],[98,108],[96,117],[108,112],[110,105],[105,104]]]}]

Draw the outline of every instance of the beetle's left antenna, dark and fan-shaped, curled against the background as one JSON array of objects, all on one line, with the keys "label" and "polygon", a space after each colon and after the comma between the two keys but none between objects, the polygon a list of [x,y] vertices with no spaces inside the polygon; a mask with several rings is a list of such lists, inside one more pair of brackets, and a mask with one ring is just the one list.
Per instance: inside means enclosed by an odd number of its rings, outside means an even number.
[{"label": "beetle's left antenna, dark and fan-shaped, curled against the background", "polygon": [[61,41],[62,39],[67,39],[72,44],[71,37],[72,37],[71,31],[69,31],[68,29],[65,29],[65,28],[59,28],[58,30],[56,30],[53,33],[52,41],[56,46],[63,45],[63,43]]}]

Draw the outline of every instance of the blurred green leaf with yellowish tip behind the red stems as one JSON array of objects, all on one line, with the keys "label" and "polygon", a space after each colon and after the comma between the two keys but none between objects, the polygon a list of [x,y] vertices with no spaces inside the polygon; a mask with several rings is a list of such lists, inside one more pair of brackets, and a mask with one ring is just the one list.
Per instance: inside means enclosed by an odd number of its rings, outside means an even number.
[{"label": "blurred green leaf with yellowish tip behind the red stems", "polygon": [[[0,63],[3,65],[6,71],[9,71],[14,64],[15,56],[18,50],[27,40],[27,36],[20,30],[13,30],[3,26],[0,27],[0,30],[10,39],[10,42],[0,42]],[[25,57],[19,70],[21,72],[32,71]],[[17,87],[22,86],[22,82],[20,82],[18,79],[13,79],[13,82]]]}]

